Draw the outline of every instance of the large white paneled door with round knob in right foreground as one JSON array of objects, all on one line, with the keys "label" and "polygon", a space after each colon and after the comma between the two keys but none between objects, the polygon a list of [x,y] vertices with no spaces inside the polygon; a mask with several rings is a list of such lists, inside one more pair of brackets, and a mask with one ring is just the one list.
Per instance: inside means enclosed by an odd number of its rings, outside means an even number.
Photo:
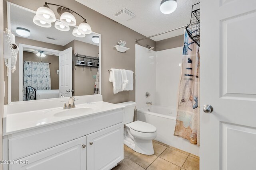
[{"label": "large white paneled door with round knob in right foreground", "polygon": [[201,0],[200,26],[200,170],[256,170],[256,0]]}]

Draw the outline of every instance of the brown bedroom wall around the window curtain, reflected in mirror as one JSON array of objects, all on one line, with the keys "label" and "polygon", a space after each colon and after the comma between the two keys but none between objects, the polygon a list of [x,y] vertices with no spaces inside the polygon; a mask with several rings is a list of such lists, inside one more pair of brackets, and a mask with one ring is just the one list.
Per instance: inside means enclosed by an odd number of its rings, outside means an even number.
[{"label": "brown bedroom wall around the window curtain, reflected in mirror", "polygon": [[[41,62],[40,58],[36,54],[26,52],[26,51],[23,51],[23,61]],[[57,70],[59,69],[59,57],[54,55],[46,55],[44,58],[42,58],[42,63],[51,63],[50,64],[51,89],[52,90],[59,89],[59,74],[57,74]],[[19,80],[16,80],[15,84],[16,83],[19,83]]]}]

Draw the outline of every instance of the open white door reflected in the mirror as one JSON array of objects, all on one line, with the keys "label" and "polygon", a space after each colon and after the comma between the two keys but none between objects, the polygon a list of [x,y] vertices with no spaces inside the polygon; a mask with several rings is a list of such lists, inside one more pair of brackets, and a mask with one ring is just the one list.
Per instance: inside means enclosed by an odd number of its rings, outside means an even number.
[{"label": "open white door reflected in the mirror", "polygon": [[59,96],[72,96],[72,47],[59,53]]}]

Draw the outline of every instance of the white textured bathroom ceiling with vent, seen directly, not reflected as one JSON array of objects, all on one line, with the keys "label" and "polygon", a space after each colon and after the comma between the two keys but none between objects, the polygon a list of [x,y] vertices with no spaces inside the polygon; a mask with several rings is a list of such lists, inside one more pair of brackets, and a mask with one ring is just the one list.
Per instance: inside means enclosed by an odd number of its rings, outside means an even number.
[{"label": "white textured bathroom ceiling with vent, seen directly, not reflected", "polygon": [[[199,0],[177,0],[178,7],[172,14],[162,14],[161,0],[76,0],[85,6],[111,18],[114,21],[133,29],[145,36],[154,35],[170,29],[175,29],[190,23],[191,8]],[[122,8],[127,8],[135,17],[121,21],[114,16]],[[183,29],[152,37],[160,41],[183,34]]]}]

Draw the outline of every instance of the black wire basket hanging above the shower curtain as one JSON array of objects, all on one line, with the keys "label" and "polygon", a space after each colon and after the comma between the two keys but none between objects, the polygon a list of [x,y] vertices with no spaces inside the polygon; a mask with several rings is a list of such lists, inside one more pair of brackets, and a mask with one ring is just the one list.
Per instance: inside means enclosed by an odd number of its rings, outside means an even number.
[{"label": "black wire basket hanging above the shower curtain", "polygon": [[190,24],[186,27],[186,30],[188,36],[200,47],[200,8],[193,10],[197,4],[192,6]]}]

